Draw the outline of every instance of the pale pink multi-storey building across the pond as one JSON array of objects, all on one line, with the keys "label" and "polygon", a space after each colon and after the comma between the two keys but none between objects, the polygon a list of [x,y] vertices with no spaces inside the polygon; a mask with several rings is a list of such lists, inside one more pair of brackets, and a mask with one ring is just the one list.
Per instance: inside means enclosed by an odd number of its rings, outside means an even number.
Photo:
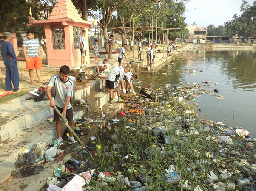
[{"label": "pale pink multi-storey building across the pond", "polygon": [[197,24],[194,22],[192,25],[188,25],[186,27],[189,32],[188,39],[185,39],[185,42],[193,42],[193,43],[205,43],[207,29],[203,27],[197,27]]}]

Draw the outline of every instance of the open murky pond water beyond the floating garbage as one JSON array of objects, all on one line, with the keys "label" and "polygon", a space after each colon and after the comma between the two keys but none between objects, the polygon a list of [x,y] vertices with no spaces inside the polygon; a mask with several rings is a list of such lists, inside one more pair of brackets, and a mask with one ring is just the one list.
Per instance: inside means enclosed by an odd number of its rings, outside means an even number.
[{"label": "open murky pond water beyond the floating garbage", "polygon": [[[204,119],[222,121],[230,127],[243,127],[256,137],[256,51],[235,49],[193,49],[183,55],[187,60],[172,60],[172,67],[180,72],[173,72],[168,66],[162,67],[154,77],[139,73],[138,86],[164,86],[182,83],[202,83],[210,81],[204,89],[219,89],[216,94],[203,94],[195,102]],[[196,70],[195,74],[185,71]],[[201,72],[199,72],[201,70]],[[167,74],[162,74],[167,73]],[[219,85],[216,86],[215,84]],[[202,83],[206,85],[205,83]],[[206,116],[205,116],[206,115]]]}]

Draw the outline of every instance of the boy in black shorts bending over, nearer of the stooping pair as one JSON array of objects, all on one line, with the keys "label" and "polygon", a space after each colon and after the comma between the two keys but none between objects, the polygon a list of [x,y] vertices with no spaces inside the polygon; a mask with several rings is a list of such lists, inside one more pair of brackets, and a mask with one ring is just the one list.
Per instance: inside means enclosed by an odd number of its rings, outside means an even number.
[{"label": "boy in black shorts bending over, nearer of the stooping pair", "polygon": [[126,93],[125,90],[125,85],[124,85],[124,76],[125,73],[130,72],[130,68],[126,66],[123,68],[122,66],[116,66],[113,69],[110,70],[110,72],[107,75],[106,78],[106,88],[110,89],[109,94],[110,94],[110,103],[114,103],[114,98],[113,98],[113,89],[117,88],[117,95],[118,95],[118,101],[122,102],[123,100],[121,99],[121,94],[120,94],[120,89],[119,89],[119,84],[117,80],[120,81],[121,83],[121,88],[123,93]]}]

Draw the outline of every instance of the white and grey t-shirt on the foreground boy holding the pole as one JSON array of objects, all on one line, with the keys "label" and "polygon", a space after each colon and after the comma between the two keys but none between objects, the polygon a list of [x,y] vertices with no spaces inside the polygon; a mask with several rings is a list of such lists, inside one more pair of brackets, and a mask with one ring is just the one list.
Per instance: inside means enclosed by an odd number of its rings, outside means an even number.
[{"label": "white and grey t-shirt on the foreground boy holding the pole", "polygon": [[[53,75],[50,79],[48,86],[55,86],[55,97],[54,101],[56,106],[59,108],[64,108],[65,100],[67,96],[73,96],[74,82],[68,77],[66,82],[62,82],[60,79],[60,74]],[[68,104],[68,109],[72,108],[71,103]]]}]

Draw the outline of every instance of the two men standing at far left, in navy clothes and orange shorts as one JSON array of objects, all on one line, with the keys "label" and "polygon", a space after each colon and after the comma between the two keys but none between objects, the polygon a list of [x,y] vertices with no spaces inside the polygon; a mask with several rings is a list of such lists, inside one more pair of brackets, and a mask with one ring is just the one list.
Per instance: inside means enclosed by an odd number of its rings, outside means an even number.
[{"label": "two men standing at far left, in navy clothes and orange shorts", "polygon": [[[40,50],[40,44],[37,39],[34,38],[34,31],[28,30],[27,39],[23,41],[23,53],[26,59],[26,69],[29,71],[29,77],[31,85],[34,85],[34,69],[36,69],[37,78],[39,83],[45,83],[41,78],[42,68],[42,56]],[[4,42],[1,44],[1,54],[3,62],[6,68],[5,86],[6,91],[23,91],[20,89],[20,77],[18,70],[17,56],[14,51],[14,47],[11,44],[13,35],[10,32],[3,33]]]}]

